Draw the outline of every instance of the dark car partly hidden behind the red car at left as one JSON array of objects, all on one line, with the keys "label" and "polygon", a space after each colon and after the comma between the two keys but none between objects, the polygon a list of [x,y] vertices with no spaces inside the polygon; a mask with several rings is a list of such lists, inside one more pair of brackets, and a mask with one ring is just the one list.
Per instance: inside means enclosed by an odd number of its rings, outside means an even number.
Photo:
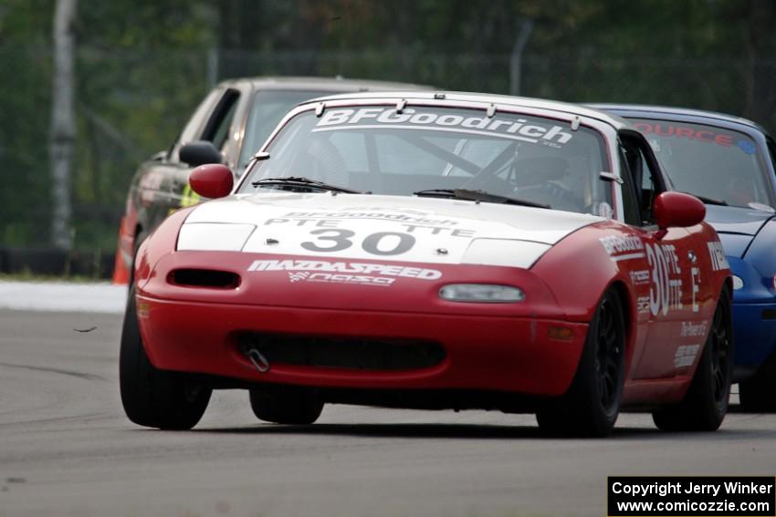
[{"label": "dark car partly hidden behind the red car at left", "polygon": [[342,78],[236,78],[216,86],[169,150],[144,161],[132,178],[121,218],[113,281],[131,281],[135,252],[167,215],[199,202],[189,172],[225,163],[236,176],[288,111],[335,93],[428,89],[418,85]]}]

